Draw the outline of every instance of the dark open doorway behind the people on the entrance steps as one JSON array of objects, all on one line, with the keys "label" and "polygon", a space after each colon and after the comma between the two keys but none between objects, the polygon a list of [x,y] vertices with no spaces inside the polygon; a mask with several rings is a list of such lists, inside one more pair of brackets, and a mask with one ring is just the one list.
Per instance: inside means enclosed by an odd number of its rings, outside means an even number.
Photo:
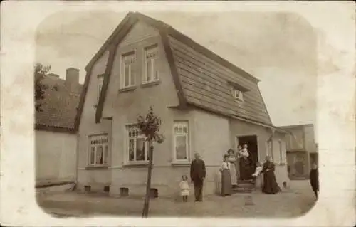
[{"label": "dark open doorway behind the people on the entrance steps", "polygon": [[[252,174],[256,169],[258,162],[258,142],[256,135],[248,135],[236,137],[236,146],[247,144],[249,157],[244,160],[239,160],[239,179],[249,180],[253,179]],[[236,147],[236,148],[237,148]]]}]

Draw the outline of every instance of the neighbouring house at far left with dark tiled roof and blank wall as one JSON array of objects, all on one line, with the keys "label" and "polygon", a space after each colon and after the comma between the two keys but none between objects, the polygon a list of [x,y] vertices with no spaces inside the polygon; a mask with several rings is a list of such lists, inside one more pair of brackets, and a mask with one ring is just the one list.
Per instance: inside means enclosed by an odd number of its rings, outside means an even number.
[{"label": "neighbouring house at far left with dark tiled roof and blank wall", "polygon": [[75,181],[77,135],[75,115],[82,85],[79,70],[68,68],[66,80],[46,75],[48,89],[35,117],[36,186]]}]

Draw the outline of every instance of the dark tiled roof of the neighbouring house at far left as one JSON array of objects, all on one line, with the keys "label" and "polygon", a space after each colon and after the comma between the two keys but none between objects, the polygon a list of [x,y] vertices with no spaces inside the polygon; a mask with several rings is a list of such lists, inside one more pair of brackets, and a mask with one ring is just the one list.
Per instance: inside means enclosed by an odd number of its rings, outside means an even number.
[{"label": "dark tiled roof of the neighbouring house at far left", "polygon": [[53,132],[75,133],[75,115],[80,100],[82,85],[68,90],[66,80],[47,75],[42,83],[48,85],[41,100],[41,112],[35,113],[35,128]]}]

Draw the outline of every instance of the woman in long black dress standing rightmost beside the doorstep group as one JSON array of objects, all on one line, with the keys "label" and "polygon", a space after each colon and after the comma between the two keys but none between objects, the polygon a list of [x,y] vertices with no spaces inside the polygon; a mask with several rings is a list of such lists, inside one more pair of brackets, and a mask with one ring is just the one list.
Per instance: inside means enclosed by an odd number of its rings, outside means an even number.
[{"label": "woman in long black dress standing rightmost beside the doorstep group", "polygon": [[263,163],[263,189],[262,191],[266,194],[276,194],[281,191],[276,181],[276,176],[274,174],[274,164],[271,162],[270,157],[266,157],[266,162]]}]

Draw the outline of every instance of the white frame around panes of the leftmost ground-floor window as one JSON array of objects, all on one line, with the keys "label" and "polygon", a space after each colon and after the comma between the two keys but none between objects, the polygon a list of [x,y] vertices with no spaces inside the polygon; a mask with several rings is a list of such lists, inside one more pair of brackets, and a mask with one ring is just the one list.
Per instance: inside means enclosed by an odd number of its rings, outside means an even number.
[{"label": "white frame around panes of the leftmost ground-floor window", "polygon": [[[98,139],[103,139],[102,137],[106,137],[107,142],[101,144],[91,144],[91,142],[95,139],[92,138],[98,137]],[[103,147],[102,150],[102,163],[97,163],[97,152],[98,146]],[[105,156],[105,147],[108,147],[107,155]],[[94,148],[94,160],[91,162],[92,157],[92,148]],[[108,167],[110,162],[110,137],[108,132],[100,133],[100,134],[88,134],[88,167]]]}]

